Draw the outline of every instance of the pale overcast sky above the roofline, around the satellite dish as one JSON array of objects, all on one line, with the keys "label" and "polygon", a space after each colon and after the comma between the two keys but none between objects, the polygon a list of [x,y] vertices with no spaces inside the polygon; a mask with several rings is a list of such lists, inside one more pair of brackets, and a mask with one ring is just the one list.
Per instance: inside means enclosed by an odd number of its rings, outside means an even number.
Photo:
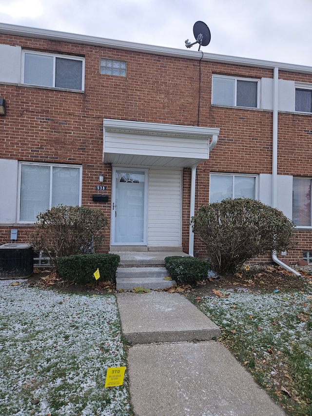
[{"label": "pale overcast sky above the roofline, around the satellite dish", "polygon": [[184,50],[197,20],[203,52],[312,66],[312,0],[0,0],[2,23]]}]

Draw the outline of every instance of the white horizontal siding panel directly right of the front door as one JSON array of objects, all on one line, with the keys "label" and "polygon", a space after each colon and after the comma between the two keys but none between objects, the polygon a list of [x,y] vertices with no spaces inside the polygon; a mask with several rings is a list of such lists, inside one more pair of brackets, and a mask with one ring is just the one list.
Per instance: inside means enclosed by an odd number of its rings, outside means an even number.
[{"label": "white horizontal siding panel directly right of the front door", "polygon": [[148,246],[181,245],[180,170],[149,170]]}]

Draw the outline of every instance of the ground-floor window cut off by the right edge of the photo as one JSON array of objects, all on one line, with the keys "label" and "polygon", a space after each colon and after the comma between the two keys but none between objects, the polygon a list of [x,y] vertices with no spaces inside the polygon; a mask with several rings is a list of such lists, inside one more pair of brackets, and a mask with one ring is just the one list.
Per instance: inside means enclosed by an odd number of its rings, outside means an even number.
[{"label": "ground-floor window cut off by the right edge of the photo", "polygon": [[292,221],[297,226],[311,227],[311,178],[292,178]]}]

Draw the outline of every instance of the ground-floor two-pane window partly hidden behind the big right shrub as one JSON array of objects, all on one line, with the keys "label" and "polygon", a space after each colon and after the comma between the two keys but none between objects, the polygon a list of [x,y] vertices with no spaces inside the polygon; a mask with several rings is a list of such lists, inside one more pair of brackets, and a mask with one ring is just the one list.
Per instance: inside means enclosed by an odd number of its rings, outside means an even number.
[{"label": "ground-floor two-pane window partly hidden behind the big right shrub", "polygon": [[210,174],[209,202],[227,198],[251,198],[256,194],[255,175]]}]

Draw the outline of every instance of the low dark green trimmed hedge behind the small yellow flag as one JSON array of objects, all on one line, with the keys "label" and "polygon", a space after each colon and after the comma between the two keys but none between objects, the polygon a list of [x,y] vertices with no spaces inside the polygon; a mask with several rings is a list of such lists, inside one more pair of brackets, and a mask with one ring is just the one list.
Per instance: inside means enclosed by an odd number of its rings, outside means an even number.
[{"label": "low dark green trimmed hedge behind the small yellow flag", "polygon": [[113,281],[116,283],[116,270],[120,261],[117,254],[80,254],[77,256],[60,257],[59,274],[65,280],[76,283],[95,282],[93,273],[98,269],[98,281]]}]

